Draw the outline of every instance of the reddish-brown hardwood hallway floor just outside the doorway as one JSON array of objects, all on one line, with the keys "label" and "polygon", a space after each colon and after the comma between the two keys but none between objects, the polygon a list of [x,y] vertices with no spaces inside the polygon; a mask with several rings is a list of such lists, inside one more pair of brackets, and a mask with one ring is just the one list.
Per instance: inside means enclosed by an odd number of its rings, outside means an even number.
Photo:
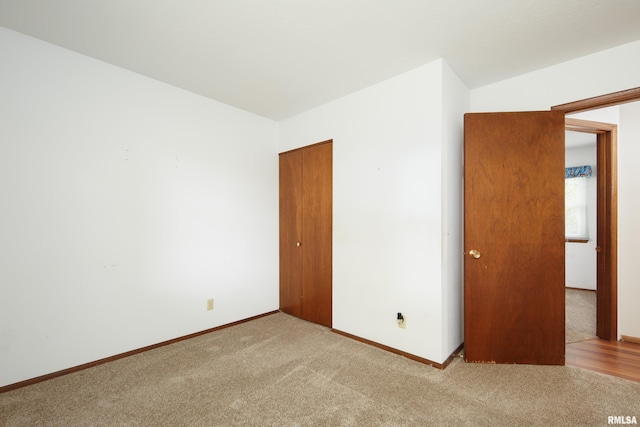
[{"label": "reddish-brown hardwood hallway floor just outside the doorway", "polygon": [[640,344],[601,339],[567,344],[565,364],[640,382]]}]

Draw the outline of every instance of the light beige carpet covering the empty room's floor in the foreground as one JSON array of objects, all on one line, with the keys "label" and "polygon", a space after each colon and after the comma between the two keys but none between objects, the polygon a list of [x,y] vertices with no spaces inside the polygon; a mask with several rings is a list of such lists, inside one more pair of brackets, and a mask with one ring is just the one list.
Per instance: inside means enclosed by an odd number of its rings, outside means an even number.
[{"label": "light beige carpet covering the empty room's floor in the foreground", "polygon": [[278,313],[0,394],[2,426],[607,425],[640,383],[569,367],[446,370]]}]

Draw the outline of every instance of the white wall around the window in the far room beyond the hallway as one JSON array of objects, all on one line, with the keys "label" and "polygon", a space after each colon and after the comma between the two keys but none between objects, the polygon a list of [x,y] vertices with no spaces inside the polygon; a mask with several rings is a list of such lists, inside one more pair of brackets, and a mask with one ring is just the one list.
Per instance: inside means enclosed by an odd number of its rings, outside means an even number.
[{"label": "white wall around the window in the far room beyond the hallway", "polygon": [[597,156],[596,135],[585,134],[593,140],[587,147],[565,150],[565,167],[591,165],[593,175],[587,178],[587,227],[589,241],[565,243],[565,285],[570,288],[596,289],[596,242],[597,242]]}]

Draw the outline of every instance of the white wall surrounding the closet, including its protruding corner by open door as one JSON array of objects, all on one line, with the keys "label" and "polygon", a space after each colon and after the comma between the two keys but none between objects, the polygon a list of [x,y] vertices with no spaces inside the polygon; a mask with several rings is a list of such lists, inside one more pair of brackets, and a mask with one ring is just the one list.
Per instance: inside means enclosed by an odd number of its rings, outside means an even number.
[{"label": "white wall surrounding the closet, including its protruding corner by open door", "polygon": [[[461,343],[445,323],[460,308],[443,311],[461,289],[459,261],[443,259],[460,240],[461,212],[446,227],[443,212],[461,203],[465,90],[439,60],[280,123],[280,151],[333,139],[333,327],[438,363],[445,342]],[[455,95],[446,114],[445,91]]]}]

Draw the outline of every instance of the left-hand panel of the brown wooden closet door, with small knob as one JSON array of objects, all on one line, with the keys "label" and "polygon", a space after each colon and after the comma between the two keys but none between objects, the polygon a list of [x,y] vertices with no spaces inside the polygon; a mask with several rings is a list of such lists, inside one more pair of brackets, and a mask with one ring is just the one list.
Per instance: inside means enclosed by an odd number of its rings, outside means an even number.
[{"label": "left-hand panel of the brown wooden closet door, with small knob", "polygon": [[302,317],[302,151],[280,155],[280,310]]}]

